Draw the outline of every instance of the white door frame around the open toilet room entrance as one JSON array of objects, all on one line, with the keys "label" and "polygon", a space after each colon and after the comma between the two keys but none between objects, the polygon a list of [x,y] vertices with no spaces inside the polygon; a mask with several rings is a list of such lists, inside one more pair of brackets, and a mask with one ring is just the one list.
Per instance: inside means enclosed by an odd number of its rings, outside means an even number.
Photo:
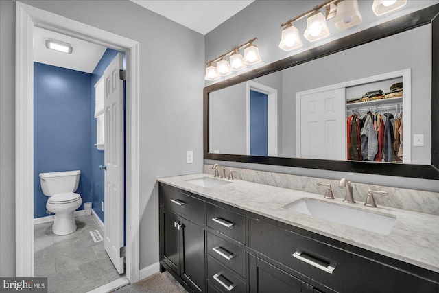
[{"label": "white door frame around the open toilet room entrance", "polygon": [[139,281],[139,42],[16,2],[16,277],[34,276],[34,27],[126,52],[126,277]]}]

